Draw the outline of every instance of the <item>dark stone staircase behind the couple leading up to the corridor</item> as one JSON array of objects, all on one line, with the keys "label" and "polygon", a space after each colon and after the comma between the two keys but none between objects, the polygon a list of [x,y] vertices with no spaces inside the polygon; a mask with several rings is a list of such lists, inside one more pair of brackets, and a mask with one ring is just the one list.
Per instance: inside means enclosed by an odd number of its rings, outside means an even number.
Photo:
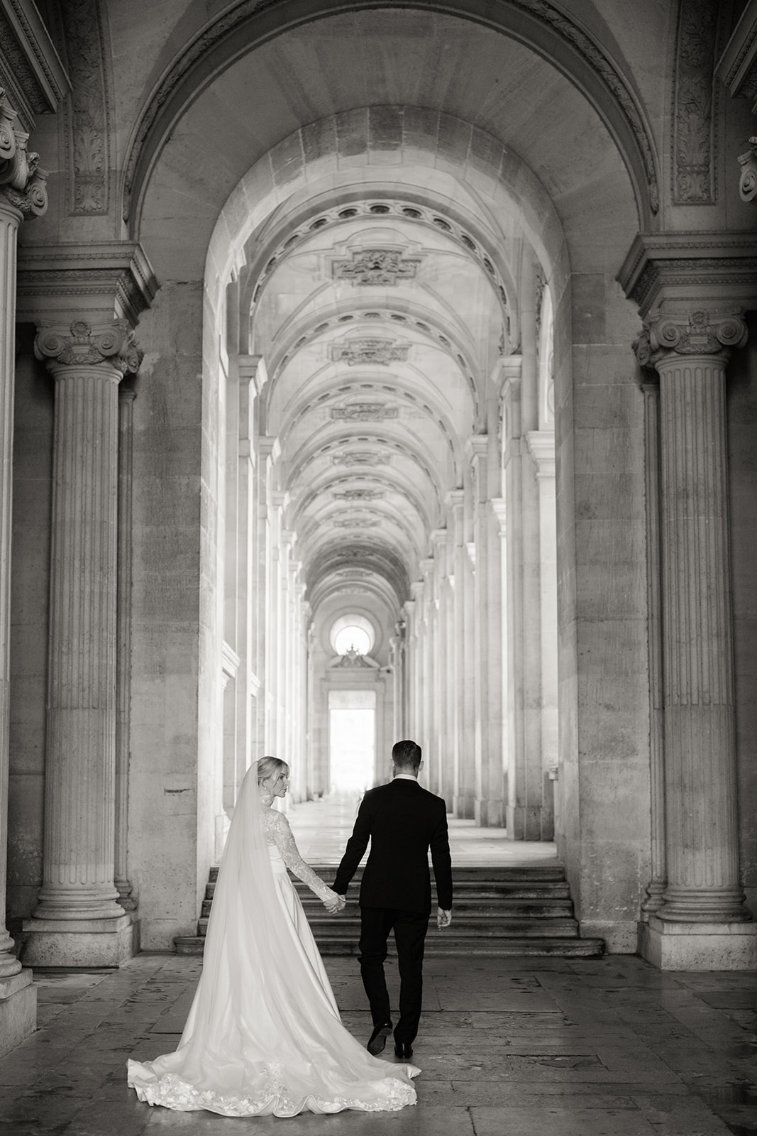
[{"label": "dark stone staircase behind the couple leading up to the corridor", "polygon": [[[334,866],[323,864],[313,864],[313,869],[327,883],[336,871]],[[359,868],[350,885],[347,909],[339,916],[329,916],[320,900],[298,879],[294,880],[321,954],[358,953],[356,884],[361,875]],[[217,876],[218,868],[211,868],[197,934],[174,939],[179,954],[202,954]],[[603,953],[600,938],[579,935],[565,871],[560,866],[455,868],[454,883],[452,927],[439,932],[431,921],[427,957],[531,954],[578,959]]]}]

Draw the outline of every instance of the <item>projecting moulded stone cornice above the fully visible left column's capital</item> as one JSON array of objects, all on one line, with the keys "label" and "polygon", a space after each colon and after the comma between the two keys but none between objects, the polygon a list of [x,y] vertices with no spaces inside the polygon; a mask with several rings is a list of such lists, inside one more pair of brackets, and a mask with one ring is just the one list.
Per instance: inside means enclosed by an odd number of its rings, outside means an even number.
[{"label": "projecting moulded stone cornice above the fully visible left column's capital", "polygon": [[50,307],[112,308],[134,326],[157,291],[150,261],[133,241],[18,250],[18,319],[37,318]]}]

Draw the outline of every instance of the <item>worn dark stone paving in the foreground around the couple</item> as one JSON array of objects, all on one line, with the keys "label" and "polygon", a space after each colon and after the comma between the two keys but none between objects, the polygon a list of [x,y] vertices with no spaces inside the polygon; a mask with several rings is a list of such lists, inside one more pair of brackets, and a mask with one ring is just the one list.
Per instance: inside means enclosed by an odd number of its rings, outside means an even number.
[{"label": "worn dark stone paving in the foreground around the couple", "polygon": [[[367,1037],[352,959],[326,959]],[[141,1104],[128,1056],[173,1050],[200,960],[36,975],[40,1028],[0,1060],[0,1136],[727,1136],[757,1133],[757,972],[662,974],[639,959],[432,959],[399,1113],[227,1119]],[[394,984],[394,972],[392,972]]]}]

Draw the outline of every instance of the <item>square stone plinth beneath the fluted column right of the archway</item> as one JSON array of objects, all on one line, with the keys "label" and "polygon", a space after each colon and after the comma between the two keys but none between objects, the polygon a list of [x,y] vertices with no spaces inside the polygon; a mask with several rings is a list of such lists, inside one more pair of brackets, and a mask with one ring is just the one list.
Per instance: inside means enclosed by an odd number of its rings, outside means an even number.
[{"label": "square stone plinth beneath the fluted column right of the archway", "polygon": [[650,913],[639,924],[638,952],[661,970],[755,970],[757,924],[666,922]]}]

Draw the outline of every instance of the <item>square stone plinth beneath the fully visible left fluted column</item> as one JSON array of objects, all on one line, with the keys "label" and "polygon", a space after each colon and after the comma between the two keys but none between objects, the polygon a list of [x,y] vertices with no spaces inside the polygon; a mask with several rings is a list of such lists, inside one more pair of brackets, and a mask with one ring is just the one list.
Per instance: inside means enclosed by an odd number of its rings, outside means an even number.
[{"label": "square stone plinth beneath the fully visible left fluted column", "polygon": [[117,919],[27,919],[22,958],[31,967],[120,967],[140,950],[140,925]]}]

